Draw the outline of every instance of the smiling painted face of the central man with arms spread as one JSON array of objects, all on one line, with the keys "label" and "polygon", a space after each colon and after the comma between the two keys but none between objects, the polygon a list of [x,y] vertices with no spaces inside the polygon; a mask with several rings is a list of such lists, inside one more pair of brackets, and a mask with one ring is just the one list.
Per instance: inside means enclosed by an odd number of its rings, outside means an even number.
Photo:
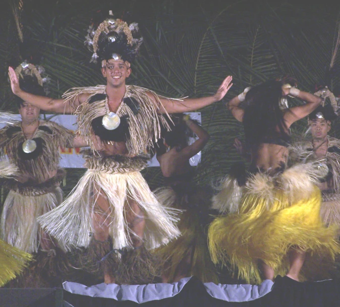
[{"label": "smiling painted face of the central man with arms spread", "polygon": [[122,84],[125,85],[125,79],[130,76],[131,68],[121,59],[111,59],[101,68],[101,73],[106,78],[107,84],[118,87]]}]

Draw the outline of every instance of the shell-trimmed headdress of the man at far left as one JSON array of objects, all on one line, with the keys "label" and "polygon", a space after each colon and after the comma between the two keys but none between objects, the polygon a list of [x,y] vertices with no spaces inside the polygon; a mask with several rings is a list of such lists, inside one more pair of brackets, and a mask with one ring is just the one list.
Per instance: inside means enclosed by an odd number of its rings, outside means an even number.
[{"label": "shell-trimmed headdress of the man at far left", "polygon": [[48,77],[44,77],[45,69],[40,65],[34,65],[27,61],[22,62],[16,69],[20,82],[20,88],[27,93],[45,96],[48,94]]}]

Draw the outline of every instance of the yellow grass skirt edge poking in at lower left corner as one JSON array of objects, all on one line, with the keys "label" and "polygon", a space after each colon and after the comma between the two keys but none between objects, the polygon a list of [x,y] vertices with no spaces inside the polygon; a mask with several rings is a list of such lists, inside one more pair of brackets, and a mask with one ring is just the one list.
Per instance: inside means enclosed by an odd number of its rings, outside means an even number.
[{"label": "yellow grass skirt edge poking in at lower left corner", "polygon": [[0,240],[0,287],[20,274],[31,258],[29,253]]}]

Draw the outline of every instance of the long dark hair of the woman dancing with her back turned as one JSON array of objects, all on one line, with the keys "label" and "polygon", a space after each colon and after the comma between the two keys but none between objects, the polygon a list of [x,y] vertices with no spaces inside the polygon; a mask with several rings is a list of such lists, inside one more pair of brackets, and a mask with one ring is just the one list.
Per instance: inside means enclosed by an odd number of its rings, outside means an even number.
[{"label": "long dark hair of the woman dancing with her back turned", "polygon": [[259,145],[277,135],[289,137],[283,112],[279,108],[281,86],[280,81],[267,81],[247,93],[243,125],[249,145]]}]

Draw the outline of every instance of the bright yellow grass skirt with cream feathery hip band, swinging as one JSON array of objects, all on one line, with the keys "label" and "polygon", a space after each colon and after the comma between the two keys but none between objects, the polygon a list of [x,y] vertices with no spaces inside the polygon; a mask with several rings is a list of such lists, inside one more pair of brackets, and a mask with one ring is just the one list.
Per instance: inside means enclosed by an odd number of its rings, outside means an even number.
[{"label": "bright yellow grass skirt with cream feathery hip band, swinging", "polygon": [[[257,173],[244,187],[238,211],[217,217],[208,238],[213,262],[230,264],[239,278],[261,282],[258,260],[275,274],[286,274],[287,253],[300,248],[310,253],[306,261],[322,255],[334,260],[340,246],[336,227],[323,224],[321,193],[315,186],[315,165],[297,164],[275,177]],[[314,257],[315,256],[315,257]]]}]

